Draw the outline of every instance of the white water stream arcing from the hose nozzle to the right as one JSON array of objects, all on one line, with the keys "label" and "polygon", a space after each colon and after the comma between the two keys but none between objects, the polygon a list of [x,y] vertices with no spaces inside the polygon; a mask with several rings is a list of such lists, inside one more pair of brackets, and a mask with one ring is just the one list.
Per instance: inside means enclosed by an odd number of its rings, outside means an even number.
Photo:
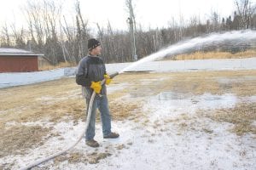
[{"label": "white water stream arcing from the hose nozzle to the right", "polygon": [[206,48],[207,46],[216,46],[219,44],[231,43],[232,47],[237,47],[241,42],[256,43],[256,31],[246,30],[212,33],[204,37],[195,37],[187,41],[178,42],[177,44],[171,45],[168,48],[164,48],[157,53],[150,54],[147,57],[144,57],[143,59],[132,63],[131,65],[125,67],[122,71],[119,71],[119,73],[122,73],[124,71],[131,71],[131,69],[137,67],[137,65],[141,65],[148,61],[163,59],[166,56],[172,56],[173,54],[183,54],[188,51],[195,51],[197,48],[200,48],[202,46]]}]

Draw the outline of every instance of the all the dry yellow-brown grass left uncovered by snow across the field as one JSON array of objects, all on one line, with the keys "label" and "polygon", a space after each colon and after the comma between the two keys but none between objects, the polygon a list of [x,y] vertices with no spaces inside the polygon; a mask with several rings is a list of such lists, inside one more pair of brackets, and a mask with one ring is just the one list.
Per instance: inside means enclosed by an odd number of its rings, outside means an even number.
[{"label": "all the dry yellow-brown grass left uncovered by snow across the field", "polygon": [[[128,86],[114,90],[114,87],[118,87],[121,83],[126,83]],[[111,86],[114,91],[108,94],[108,100],[113,120],[129,119],[137,122],[141,117],[147,116],[140,110],[144,105],[143,99],[161,92],[172,91],[190,96],[205,93],[235,94],[237,97],[256,96],[256,71],[125,73],[115,77]],[[123,99],[127,95],[132,99],[129,101]],[[36,148],[51,137],[58,136],[58,133],[52,132],[52,127],[29,126],[30,122],[47,120],[54,126],[57,122],[73,121],[76,124],[81,120],[84,121],[85,102],[74,78],[0,89],[0,103],[0,158],[26,154],[26,149]],[[230,132],[236,135],[256,134],[256,127],[252,124],[256,121],[255,105],[255,102],[240,103],[235,108],[214,110],[212,114],[198,111],[198,116],[207,116],[215,122],[233,123],[235,126]],[[137,114],[134,114],[134,111]],[[181,116],[178,119],[191,121],[194,118]],[[176,121],[166,120],[173,123]],[[147,125],[147,119],[143,123]],[[188,124],[178,123],[177,126],[185,128]],[[206,132],[211,133],[207,129]],[[110,155],[92,153],[84,159],[98,162]],[[55,162],[76,161],[77,157],[79,157],[77,154],[73,154],[68,158],[60,157]]]}]

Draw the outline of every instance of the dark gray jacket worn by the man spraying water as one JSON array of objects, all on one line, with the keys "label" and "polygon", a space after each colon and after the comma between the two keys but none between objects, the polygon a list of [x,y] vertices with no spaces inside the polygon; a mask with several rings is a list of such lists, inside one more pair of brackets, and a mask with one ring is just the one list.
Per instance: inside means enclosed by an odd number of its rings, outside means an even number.
[{"label": "dark gray jacket worn by the man spraying water", "polygon": [[[90,88],[91,82],[99,82],[104,79],[104,74],[106,74],[106,67],[103,60],[98,56],[86,56],[79,61],[79,66],[76,75],[76,81],[82,85],[83,95],[85,98],[90,99],[93,92]],[[102,95],[107,94],[106,85],[102,85]]]}]

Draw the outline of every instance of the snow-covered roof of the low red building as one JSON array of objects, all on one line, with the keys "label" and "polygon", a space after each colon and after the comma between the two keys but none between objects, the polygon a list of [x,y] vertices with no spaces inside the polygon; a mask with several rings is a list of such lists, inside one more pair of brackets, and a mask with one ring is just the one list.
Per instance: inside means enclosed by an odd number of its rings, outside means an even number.
[{"label": "snow-covered roof of the low red building", "polygon": [[32,51],[26,51],[24,49],[17,49],[17,48],[0,48],[0,57],[1,56],[20,56],[20,55],[26,55],[26,56],[44,56],[44,54],[36,54]]}]

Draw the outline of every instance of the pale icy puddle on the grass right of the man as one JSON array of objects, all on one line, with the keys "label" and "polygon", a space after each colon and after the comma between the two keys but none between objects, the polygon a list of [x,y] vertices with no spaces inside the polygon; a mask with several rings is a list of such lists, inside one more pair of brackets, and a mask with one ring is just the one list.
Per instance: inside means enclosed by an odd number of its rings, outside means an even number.
[{"label": "pale icy puddle on the grass right of the man", "polygon": [[[253,98],[254,99],[254,98]],[[234,94],[193,95],[180,92],[163,92],[148,99],[146,108],[152,109],[156,116],[175,116],[181,113],[193,114],[197,110],[232,108],[243,99]]]}]

